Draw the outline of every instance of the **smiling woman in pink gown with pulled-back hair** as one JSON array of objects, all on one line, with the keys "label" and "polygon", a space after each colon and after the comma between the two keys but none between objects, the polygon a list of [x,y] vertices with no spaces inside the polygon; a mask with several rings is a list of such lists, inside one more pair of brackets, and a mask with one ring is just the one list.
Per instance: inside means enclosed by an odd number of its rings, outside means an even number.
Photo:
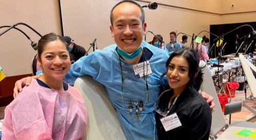
[{"label": "smiling woman in pink gown with pulled-back hair", "polygon": [[83,139],[86,106],[78,90],[63,82],[71,64],[65,40],[54,33],[41,37],[38,62],[42,76],[5,108],[3,139]]}]

